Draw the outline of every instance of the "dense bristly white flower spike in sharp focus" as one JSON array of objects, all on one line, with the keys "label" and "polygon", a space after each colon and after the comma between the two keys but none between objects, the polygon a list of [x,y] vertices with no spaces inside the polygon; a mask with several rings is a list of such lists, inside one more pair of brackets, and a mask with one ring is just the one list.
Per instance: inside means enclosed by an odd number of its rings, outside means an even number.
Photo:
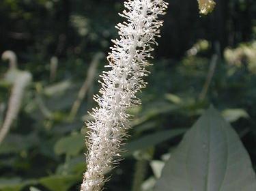
[{"label": "dense bristly white flower spike in sharp focus", "polygon": [[107,57],[111,68],[102,74],[101,95],[95,95],[98,107],[91,116],[95,121],[87,122],[89,129],[87,140],[87,171],[84,174],[81,191],[99,191],[106,181],[104,175],[113,168],[119,157],[120,146],[126,138],[129,128],[131,106],[140,104],[135,96],[146,86],[143,76],[147,59],[160,37],[162,20],[158,16],[165,14],[167,3],[162,0],[128,0],[124,2],[126,10],[121,16],[127,22],[117,24],[119,40],[113,40],[112,52]]}]

